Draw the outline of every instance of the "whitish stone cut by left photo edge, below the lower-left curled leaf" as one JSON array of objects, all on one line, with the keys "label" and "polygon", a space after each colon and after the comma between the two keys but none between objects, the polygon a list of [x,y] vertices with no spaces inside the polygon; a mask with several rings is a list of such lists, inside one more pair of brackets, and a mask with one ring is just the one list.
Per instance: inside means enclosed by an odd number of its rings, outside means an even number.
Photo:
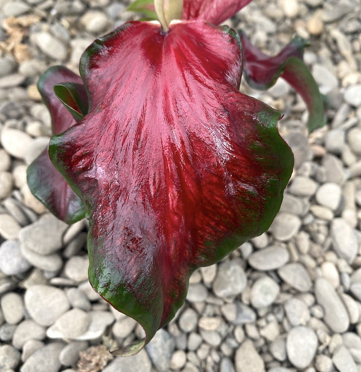
[{"label": "whitish stone cut by left photo edge, below the lower-left curled leaf", "polygon": [[23,257],[17,240],[7,240],[0,246],[0,271],[18,275],[28,271],[31,264]]}]

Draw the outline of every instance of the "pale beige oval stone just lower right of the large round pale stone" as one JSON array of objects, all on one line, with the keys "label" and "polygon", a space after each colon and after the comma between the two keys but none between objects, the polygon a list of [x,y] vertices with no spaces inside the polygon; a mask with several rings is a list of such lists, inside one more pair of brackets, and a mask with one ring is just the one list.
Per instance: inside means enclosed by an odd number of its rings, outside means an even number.
[{"label": "pale beige oval stone just lower right of the large round pale stone", "polygon": [[[49,338],[74,339],[85,333],[90,323],[90,316],[81,309],[71,309],[60,315],[48,328]],[[60,337],[59,337],[60,335]]]}]

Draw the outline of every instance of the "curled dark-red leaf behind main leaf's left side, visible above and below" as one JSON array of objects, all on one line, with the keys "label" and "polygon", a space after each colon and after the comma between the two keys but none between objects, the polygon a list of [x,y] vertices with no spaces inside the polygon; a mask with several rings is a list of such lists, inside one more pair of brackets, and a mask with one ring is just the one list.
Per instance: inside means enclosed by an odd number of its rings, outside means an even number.
[{"label": "curled dark-red leaf behind main leaf's left side, visible above and below", "polygon": [[[70,97],[63,97],[64,106],[54,92],[54,86],[68,82],[77,88],[76,95],[85,92],[81,78],[62,66],[48,69],[40,78],[38,89],[44,103],[47,105],[52,119],[54,134],[59,134],[76,123],[68,109],[77,110]],[[75,89],[75,88],[74,88]],[[87,105],[87,100],[83,105]],[[85,206],[81,199],[71,190],[64,177],[50,161],[48,149],[44,150],[27,169],[28,185],[31,192],[56,217],[68,224],[82,219]]]}]

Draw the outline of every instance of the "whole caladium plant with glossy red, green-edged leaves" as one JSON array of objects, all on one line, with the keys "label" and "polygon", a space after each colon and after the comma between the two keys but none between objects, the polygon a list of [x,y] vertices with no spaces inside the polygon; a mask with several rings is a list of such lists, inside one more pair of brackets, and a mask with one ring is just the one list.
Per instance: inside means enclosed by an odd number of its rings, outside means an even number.
[{"label": "whole caladium plant with glossy red, green-edged leaves", "polygon": [[[145,338],[186,298],[190,275],[268,229],[293,155],[281,114],[239,91],[284,77],[321,126],[323,106],[295,39],[267,57],[226,26],[251,0],[138,0],[160,22],[127,22],[94,41],[80,77],[39,81],[54,136],[28,168],[34,195],[60,219],[89,219],[89,280]],[[176,19],[176,21],[173,21]],[[306,78],[305,78],[306,77]]]}]

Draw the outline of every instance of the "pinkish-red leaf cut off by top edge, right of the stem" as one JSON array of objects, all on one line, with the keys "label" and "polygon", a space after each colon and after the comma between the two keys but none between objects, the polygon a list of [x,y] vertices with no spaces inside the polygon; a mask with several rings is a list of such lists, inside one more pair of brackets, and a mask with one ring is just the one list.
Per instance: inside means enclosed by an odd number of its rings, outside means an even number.
[{"label": "pinkish-red leaf cut off by top edge, right of the stem", "polygon": [[252,0],[184,0],[182,19],[197,18],[219,25],[251,2]]}]

